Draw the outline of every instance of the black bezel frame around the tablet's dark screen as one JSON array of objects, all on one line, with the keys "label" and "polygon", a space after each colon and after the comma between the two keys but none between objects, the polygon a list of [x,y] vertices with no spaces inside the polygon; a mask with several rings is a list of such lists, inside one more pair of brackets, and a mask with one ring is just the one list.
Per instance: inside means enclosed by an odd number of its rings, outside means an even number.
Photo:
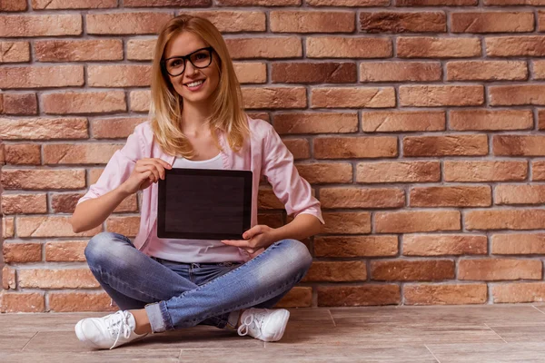
[{"label": "black bezel frame around the tablet's dark screen", "polygon": [[[240,177],[244,180],[243,191],[243,231],[241,234],[232,233],[194,233],[194,232],[173,232],[165,231],[166,224],[166,180],[169,175],[198,175],[213,178]],[[157,201],[157,237],[183,240],[243,240],[243,232],[251,227],[252,220],[252,171],[240,170],[213,170],[213,169],[184,169],[175,168],[165,170],[164,180],[158,182]]]}]

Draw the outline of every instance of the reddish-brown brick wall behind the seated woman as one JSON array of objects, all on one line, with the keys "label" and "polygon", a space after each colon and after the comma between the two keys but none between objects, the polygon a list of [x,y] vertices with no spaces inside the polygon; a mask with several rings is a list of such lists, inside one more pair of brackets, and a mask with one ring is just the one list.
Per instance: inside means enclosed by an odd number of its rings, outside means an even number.
[{"label": "reddish-brown brick wall behind the seated woman", "polygon": [[[110,309],[83,250],[134,236],[137,198],[93,231],[68,218],[145,120],[155,34],[180,12],[225,34],[245,106],[322,201],[315,262],[282,306],[545,298],[545,0],[0,6],[1,311]],[[260,204],[262,223],[290,221],[266,186]]]}]

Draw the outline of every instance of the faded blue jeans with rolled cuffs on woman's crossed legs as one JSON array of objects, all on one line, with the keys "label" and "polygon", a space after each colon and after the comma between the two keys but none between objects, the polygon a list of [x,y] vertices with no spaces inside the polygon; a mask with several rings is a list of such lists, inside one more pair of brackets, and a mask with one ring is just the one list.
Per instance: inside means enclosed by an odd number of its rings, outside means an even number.
[{"label": "faded blue jeans with rolled cuffs on woman's crossed legs", "polygon": [[122,309],[145,309],[154,333],[236,326],[240,309],[272,308],[311,267],[299,240],[279,240],[243,264],[180,263],[147,256],[122,234],[102,232],[85,248],[89,269]]}]

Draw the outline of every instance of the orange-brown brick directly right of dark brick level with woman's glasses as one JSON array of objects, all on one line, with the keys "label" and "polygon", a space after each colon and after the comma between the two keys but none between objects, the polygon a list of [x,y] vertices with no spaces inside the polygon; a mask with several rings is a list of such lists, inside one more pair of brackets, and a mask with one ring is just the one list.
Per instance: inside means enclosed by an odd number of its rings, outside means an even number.
[{"label": "orange-brown brick directly right of dark brick level with woman's glasses", "polygon": [[439,62],[365,62],[360,82],[428,82],[441,80]]}]

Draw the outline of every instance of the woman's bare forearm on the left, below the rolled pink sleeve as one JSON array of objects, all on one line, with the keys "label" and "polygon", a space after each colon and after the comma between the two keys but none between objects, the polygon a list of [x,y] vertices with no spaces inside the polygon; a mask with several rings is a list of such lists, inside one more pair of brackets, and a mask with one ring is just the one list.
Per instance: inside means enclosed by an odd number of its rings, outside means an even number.
[{"label": "woman's bare forearm on the left, below the rolled pink sleeve", "polygon": [[70,219],[73,231],[75,233],[89,231],[100,225],[129,195],[130,193],[120,187],[98,198],[81,202],[75,207],[74,214]]}]

